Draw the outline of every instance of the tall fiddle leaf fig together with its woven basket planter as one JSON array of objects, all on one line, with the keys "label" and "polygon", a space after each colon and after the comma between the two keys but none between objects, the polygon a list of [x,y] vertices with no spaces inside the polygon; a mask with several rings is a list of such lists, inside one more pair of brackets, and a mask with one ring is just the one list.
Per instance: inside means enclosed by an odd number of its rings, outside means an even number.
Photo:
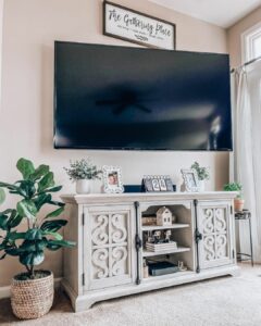
[{"label": "tall fiddle leaf fig together with its woven basket planter", "polygon": [[[11,304],[18,318],[30,319],[48,313],[53,301],[52,272],[36,269],[36,266],[44,262],[46,250],[54,251],[75,243],[65,241],[58,233],[67,221],[55,218],[63,212],[64,203],[52,199],[52,193],[62,187],[55,186],[50,167],[42,164],[35,168],[25,159],[20,159],[16,167],[22,179],[14,184],[0,181],[0,187],[20,197],[15,209],[0,213],[0,260],[7,255],[17,256],[24,265],[25,272],[12,279]],[[44,205],[53,209],[40,217]],[[23,231],[18,229],[22,223]]]}]

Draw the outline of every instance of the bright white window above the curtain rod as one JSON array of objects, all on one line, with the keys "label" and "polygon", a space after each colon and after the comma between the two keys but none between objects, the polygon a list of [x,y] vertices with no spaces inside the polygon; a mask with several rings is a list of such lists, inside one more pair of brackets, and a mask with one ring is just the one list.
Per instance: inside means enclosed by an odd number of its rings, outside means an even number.
[{"label": "bright white window above the curtain rod", "polygon": [[243,63],[261,57],[261,23],[241,35]]}]

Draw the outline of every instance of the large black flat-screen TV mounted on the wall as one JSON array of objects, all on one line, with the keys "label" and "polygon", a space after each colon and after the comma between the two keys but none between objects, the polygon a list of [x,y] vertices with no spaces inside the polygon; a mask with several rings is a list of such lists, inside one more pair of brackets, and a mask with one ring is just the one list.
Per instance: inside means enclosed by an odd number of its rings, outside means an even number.
[{"label": "large black flat-screen TV mounted on the wall", "polygon": [[227,54],[55,41],[54,147],[232,150]]}]

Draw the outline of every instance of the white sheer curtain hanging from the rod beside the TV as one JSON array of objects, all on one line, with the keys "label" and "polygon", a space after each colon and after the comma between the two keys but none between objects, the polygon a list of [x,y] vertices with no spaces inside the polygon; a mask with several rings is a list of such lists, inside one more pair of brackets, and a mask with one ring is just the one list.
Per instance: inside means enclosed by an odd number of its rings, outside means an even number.
[{"label": "white sheer curtain hanging from the rod beside the TV", "polygon": [[[234,179],[243,184],[252,214],[254,261],[261,262],[261,62],[234,73]],[[240,251],[249,252],[249,231],[240,224]]]}]

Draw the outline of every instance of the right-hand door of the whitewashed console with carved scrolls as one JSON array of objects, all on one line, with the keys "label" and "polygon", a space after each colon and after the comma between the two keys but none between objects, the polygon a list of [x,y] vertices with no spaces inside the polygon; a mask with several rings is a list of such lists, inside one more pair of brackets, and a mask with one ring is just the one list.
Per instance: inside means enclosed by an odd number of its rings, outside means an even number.
[{"label": "right-hand door of the whitewashed console with carved scrolls", "polygon": [[233,263],[232,203],[203,202],[198,203],[199,266],[201,269]]}]

